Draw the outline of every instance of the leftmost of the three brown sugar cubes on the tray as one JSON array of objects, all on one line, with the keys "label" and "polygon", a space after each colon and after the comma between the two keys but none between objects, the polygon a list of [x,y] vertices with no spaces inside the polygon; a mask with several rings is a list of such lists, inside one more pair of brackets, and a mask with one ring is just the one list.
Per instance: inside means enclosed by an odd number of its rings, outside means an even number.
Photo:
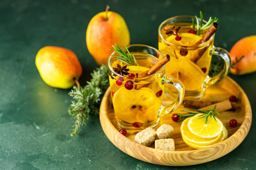
[{"label": "leftmost of the three brown sugar cubes on the tray", "polygon": [[150,146],[156,140],[156,131],[152,128],[146,128],[135,136],[135,142],[144,146]]}]

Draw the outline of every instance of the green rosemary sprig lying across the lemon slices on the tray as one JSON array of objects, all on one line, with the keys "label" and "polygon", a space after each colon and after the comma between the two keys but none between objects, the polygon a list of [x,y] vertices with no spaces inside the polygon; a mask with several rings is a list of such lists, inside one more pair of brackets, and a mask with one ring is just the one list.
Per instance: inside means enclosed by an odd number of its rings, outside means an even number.
[{"label": "green rosemary sprig lying across the lemon slices on the tray", "polygon": [[219,115],[220,113],[216,111],[216,107],[217,105],[214,106],[213,109],[208,107],[208,110],[200,110],[200,109],[192,109],[192,110],[196,110],[197,112],[194,111],[190,111],[190,110],[182,110],[183,112],[188,112],[190,114],[177,114],[179,116],[179,121],[186,119],[187,117],[191,117],[194,116],[196,114],[202,113],[202,115],[199,116],[198,119],[205,119],[205,124],[207,124],[208,122],[208,118],[209,117],[213,117],[214,120],[216,121],[216,114]]}]

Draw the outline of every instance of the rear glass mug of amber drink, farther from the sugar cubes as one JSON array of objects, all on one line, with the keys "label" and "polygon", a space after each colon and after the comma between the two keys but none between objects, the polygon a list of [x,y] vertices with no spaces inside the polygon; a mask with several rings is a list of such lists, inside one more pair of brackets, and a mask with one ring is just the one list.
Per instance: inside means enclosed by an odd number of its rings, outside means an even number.
[{"label": "rear glass mug of amber drink, farther from the sugar cubes", "polygon": [[[176,16],[161,23],[158,29],[158,48],[163,55],[169,54],[171,56],[171,60],[166,64],[166,75],[176,77],[184,83],[184,98],[196,99],[202,97],[205,87],[219,82],[228,74],[231,60],[226,50],[214,47],[215,34],[207,42],[194,45],[201,37],[200,35],[189,33],[189,30],[192,30],[193,19],[195,20],[193,16]],[[199,22],[201,22],[200,19]],[[203,20],[203,25],[205,23],[207,22]],[[164,30],[166,25],[180,27],[178,35],[181,39],[175,39],[176,35],[167,35]],[[199,60],[193,62],[191,60],[193,54],[202,49],[206,49],[205,52]],[[214,77],[208,75],[212,55],[218,55],[225,61],[223,70]],[[174,90],[170,87],[166,87],[164,90],[167,94],[174,93]]]}]

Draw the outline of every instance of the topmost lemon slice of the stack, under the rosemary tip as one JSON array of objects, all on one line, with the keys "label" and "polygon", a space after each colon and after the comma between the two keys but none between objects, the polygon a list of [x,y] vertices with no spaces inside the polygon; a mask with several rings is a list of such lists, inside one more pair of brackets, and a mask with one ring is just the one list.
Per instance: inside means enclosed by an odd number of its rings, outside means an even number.
[{"label": "topmost lemon slice of the stack, under the rosemary tip", "polygon": [[193,116],[188,122],[190,132],[201,138],[215,138],[223,131],[222,122],[215,117],[208,117],[208,122],[205,124],[205,118],[198,119],[202,114]]}]

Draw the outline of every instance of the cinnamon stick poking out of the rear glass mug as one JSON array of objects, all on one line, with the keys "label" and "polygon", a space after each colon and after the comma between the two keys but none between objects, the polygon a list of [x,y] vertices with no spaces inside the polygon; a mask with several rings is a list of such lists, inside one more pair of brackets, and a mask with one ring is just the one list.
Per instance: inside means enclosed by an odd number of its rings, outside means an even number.
[{"label": "cinnamon stick poking out of the rear glass mug", "polygon": [[[205,32],[205,34],[203,35],[203,37],[201,38],[201,40],[199,40],[198,42],[195,43],[195,45],[200,45],[204,42],[207,42],[208,40],[210,40],[210,37],[212,37],[212,35],[218,30],[218,24],[217,23],[212,23],[212,25],[210,26],[210,28]],[[205,51],[207,50],[207,47],[204,47],[202,49],[196,50],[196,52],[194,52],[194,54],[192,56],[189,57],[189,59],[195,63],[197,63],[197,61],[200,59],[200,57],[202,57],[202,55],[205,53]]]}]

